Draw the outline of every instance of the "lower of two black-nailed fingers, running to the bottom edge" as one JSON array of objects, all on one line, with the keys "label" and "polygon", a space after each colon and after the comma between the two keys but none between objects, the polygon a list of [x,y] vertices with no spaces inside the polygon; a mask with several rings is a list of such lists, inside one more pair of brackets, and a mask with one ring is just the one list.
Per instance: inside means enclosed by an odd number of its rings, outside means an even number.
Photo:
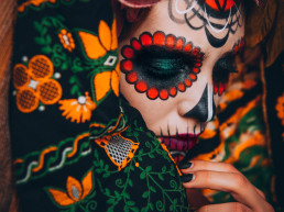
[{"label": "lower of two black-nailed fingers, running to the bottom edge", "polygon": [[[188,180],[190,177],[192,180]],[[238,202],[245,204],[248,208],[255,211],[265,211],[262,209],[266,207],[265,201],[256,192],[254,186],[241,174],[200,170],[193,172],[193,175],[182,176],[182,180],[185,188],[230,192]]]}]

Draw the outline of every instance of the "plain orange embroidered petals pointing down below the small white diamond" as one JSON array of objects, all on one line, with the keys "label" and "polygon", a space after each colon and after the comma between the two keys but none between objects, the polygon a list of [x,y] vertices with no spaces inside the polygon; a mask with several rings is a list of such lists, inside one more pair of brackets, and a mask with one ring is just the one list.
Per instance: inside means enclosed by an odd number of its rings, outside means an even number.
[{"label": "plain orange embroidered petals pointing down below the small white diamond", "polygon": [[94,77],[96,101],[101,100],[110,89],[119,96],[119,64],[112,71],[99,72]]}]

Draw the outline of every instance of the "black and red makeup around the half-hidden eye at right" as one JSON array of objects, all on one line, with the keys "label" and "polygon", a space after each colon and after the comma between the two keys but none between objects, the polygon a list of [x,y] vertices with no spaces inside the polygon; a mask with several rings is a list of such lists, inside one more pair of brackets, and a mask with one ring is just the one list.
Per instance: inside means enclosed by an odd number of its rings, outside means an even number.
[{"label": "black and red makeup around the half-hidden eye at right", "polygon": [[231,72],[238,72],[233,53],[218,59],[212,69],[214,93],[221,96],[226,90]]}]

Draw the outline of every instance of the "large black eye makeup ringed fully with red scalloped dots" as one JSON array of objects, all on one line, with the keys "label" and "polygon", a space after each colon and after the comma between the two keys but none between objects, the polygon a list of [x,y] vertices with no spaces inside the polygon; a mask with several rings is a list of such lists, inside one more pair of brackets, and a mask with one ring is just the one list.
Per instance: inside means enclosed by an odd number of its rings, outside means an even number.
[{"label": "large black eye makeup ringed fully with red scalloped dots", "polygon": [[144,32],[130,43],[121,49],[121,71],[127,82],[149,99],[175,97],[197,80],[204,53],[184,37]]}]

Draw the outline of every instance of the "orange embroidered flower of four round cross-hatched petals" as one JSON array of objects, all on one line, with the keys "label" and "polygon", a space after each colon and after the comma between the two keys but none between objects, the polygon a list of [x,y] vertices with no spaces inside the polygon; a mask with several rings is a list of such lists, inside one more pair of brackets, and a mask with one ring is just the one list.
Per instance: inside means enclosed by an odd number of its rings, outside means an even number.
[{"label": "orange embroidered flower of four round cross-hatched petals", "polygon": [[54,104],[62,98],[62,86],[51,79],[54,67],[44,55],[31,58],[29,66],[17,64],[13,68],[13,85],[18,89],[17,107],[23,113],[34,111],[40,101]]}]

